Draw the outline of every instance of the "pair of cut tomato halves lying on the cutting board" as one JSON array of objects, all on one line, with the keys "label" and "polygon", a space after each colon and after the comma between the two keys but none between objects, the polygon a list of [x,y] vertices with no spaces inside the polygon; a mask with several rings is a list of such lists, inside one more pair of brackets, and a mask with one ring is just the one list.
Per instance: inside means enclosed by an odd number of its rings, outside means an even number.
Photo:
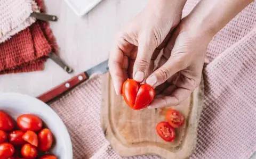
[{"label": "pair of cut tomato halves lying on the cutting board", "polygon": [[174,128],[179,128],[184,123],[184,116],[177,110],[170,109],[165,114],[167,122],[159,122],[156,126],[158,135],[167,142],[171,142],[175,139]]}]

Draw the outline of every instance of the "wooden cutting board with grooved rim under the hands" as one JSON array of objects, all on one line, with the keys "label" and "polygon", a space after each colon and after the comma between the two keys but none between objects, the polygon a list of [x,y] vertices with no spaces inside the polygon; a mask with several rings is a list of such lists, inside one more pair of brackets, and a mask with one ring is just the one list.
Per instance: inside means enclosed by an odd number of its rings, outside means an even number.
[{"label": "wooden cutting board with grooved rim under the hands", "polygon": [[202,111],[203,84],[182,104],[170,105],[186,118],[185,124],[175,129],[176,138],[171,143],[167,143],[156,133],[156,125],[165,121],[168,107],[132,110],[122,96],[115,94],[109,73],[103,77],[102,87],[101,127],[107,140],[119,155],[125,157],[158,155],[163,158],[183,159],[193,153]]}]

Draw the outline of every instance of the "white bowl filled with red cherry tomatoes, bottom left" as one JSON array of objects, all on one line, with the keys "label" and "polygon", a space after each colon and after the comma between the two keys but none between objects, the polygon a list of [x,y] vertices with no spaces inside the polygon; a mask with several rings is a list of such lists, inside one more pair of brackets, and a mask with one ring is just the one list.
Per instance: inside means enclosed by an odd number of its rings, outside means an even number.
[{"label": "white bowl filled with red cherry tomatoes, bottom left", "polygon": [[0,95],[1,159],[71,159],[65,124],[50,106],[22,94]]}]

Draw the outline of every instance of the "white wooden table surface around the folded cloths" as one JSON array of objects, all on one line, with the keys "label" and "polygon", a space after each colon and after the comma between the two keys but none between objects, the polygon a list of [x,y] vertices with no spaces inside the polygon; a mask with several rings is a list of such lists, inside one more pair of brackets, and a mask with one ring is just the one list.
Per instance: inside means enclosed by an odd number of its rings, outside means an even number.
[{"label": "white wooden table surface around the folded cloths", "polygon": [[[60,47],[60,57],[75,71],[68,74],[48,60],[44,71],[0,76],[0,93],[38,96],[107,60],[115,32],[146,3],[147,0],[103,0],[88,14],[79,17],[64,0],[45,0],[47,13],[59,17],[58,22],[51,22],[51,28]],[[256,155],[251,159],[256,159]]]}]

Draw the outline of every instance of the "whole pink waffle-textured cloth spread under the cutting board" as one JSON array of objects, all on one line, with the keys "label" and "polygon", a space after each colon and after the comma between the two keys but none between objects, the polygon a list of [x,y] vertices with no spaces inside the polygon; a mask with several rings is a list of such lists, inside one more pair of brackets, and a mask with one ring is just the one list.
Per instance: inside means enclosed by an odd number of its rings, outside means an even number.
[{"label": "whole pink waffle-textured cloth spread under the cutting board", "polygon": [[[188,1],[184,13],[196,3]],[[204,109],[191,159],[247,159],[256,150],[255,21],[253,2],[214,37],[207,49]],[[101,131],[100,98],[98,76],[50,104],[67,125],[74,158],[122,158]]]}]

